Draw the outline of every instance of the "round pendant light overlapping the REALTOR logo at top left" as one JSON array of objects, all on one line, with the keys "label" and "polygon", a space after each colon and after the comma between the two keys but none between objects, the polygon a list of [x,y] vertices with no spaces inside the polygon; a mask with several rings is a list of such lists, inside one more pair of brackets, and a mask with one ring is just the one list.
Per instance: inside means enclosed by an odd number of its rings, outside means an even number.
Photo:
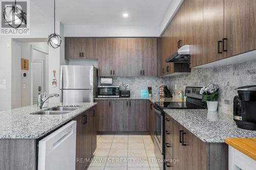
[{"label": "round pendant light overlapping the REALTOR logo at top left", "polygon": [[17,29],[22,26],[23,23],[27,25],[27,13],[16,5],[16,0],[14,3],[15,5],[5,7],[3,17],[5,23],[14,29]]}]

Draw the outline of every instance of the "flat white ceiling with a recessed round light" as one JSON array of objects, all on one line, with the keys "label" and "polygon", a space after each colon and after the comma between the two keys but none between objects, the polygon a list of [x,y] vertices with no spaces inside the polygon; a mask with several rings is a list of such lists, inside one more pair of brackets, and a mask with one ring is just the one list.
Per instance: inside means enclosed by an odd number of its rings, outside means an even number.
[{"label": "flat white ceiling with a recessed round light", "polygon": [[[56,20],[63,25],[159,26],[174,0],[56,0]],[[53,15],[53,0],[33,0]],[[129,13],[128,18],[122,14]]]}]

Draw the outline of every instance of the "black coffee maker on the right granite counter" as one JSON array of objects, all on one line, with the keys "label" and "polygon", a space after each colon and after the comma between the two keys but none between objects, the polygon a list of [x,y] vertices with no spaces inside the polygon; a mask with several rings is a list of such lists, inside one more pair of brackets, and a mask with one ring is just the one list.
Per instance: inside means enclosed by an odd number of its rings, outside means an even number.
[{"label": "black coffee maker on the right granite counter", "polygon": [[233,100],[233,119],[238,128],[256,131],[256,85],[236,88]]}]

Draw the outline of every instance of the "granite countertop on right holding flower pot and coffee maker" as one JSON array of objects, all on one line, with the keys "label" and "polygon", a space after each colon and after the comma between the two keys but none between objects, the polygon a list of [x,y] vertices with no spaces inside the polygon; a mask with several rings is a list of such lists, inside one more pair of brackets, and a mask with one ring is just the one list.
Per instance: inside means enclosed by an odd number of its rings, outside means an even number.
[{"label": "granite countertop on right holding flower pot and coffee maker", "polygon": [[237,127],[232,116],[206,109],[164,109],[168,115],[204,142],[225,142],[225,138],[256,138],[256,131]]}]

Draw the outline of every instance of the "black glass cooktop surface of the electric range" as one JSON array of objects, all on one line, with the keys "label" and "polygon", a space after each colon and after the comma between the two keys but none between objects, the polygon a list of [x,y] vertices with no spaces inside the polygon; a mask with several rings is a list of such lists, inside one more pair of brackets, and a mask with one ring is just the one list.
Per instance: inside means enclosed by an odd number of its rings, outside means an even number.
[{"label": "black glass cooktop surface of the electric range", "polygon": [[187,102],[155,102],[162,109],[202,109],[202,107]]}]

